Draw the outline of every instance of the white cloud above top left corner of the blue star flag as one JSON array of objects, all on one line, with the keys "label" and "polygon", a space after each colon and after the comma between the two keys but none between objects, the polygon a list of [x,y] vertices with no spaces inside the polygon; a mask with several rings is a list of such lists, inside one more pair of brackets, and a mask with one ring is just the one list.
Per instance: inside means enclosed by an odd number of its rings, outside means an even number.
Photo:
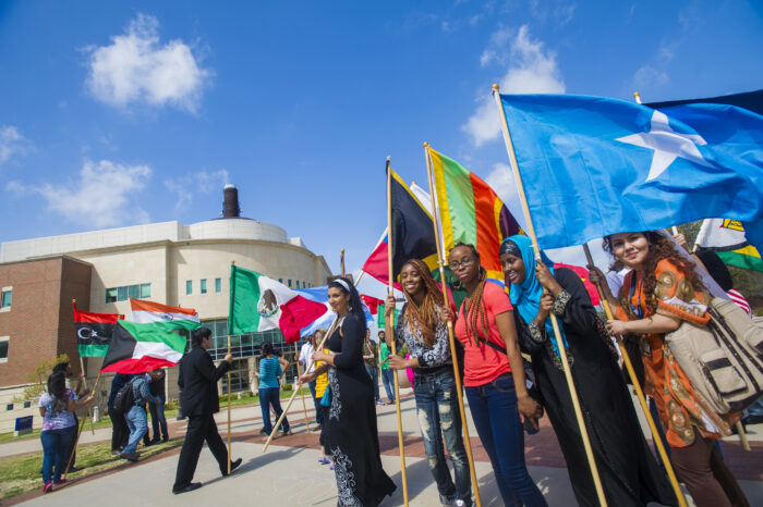
[{"label": "white cloud above top left corner of the blue star flag", "polygon": [[[509,40],[506,29],[501,28],[491,37],[491,45],[480,58],[481,63],[511,61],[511,65],[500,79],[504,94],[564,94],[567,90],[556,62],[556,53],[546,50],[543,41],[530,37],[528,25],[522,25],[508,52],[495,42]],[[481,94],[479,106],[461,129],[469,134],[475,146],[498,138],[500,123],[494,99],[485,91]]]}]

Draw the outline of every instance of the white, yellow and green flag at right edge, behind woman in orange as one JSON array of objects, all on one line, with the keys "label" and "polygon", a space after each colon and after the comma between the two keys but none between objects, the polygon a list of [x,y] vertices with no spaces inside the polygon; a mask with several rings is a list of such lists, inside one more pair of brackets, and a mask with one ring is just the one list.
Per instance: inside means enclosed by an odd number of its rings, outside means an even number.
[{"label": "white, yellow and green flag at right edge, behind woman in orange", "polygon": [[738,220],[704,220],[695,244],[704,249],[714,250],[727,264],[763,271],[761,253],[747,242],[744,227]]}]

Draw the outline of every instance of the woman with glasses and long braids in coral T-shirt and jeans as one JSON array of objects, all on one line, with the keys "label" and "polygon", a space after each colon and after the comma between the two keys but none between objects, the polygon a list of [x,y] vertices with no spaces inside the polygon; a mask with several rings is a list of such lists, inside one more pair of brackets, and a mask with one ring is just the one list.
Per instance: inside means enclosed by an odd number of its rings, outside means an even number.
[{"label": "woman with glasses and long braids in coral T-shirt and jeans", "polygon": [[543,412],[528,392],[509,296],[487,283],[473,245],[457,244],[448,263],[467,288],[456,321],[456,335],[464,347],[463,385],[500,496],[506,505],[546,506],[524,463],[520,413],[537,428]]}]

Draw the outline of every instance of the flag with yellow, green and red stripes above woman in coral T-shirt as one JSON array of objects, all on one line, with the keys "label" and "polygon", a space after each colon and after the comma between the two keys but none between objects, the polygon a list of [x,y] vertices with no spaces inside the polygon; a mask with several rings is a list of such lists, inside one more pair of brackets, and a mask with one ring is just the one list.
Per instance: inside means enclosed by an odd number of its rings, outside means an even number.
[{"label": "flag with yellow, green and red stripes above woman in coral T-shirt", "polygon": [[429,154],[446,251],[459,242],[474,245],[487,277],[502,285],[498,249],[504,238],[521,232],[519,224],[476,174],[432,148]]}]

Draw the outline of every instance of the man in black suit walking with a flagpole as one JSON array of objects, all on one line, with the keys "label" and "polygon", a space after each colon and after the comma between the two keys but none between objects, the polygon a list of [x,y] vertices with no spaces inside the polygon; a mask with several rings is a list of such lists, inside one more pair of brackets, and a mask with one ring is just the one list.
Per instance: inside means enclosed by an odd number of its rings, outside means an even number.
[{"label": "man in black suit walking with a flagpole", "polygon": [[[220,465],[222,477],[228,475],[228,448],[217,432],[217,423],[213,415],[220,411],[217,381],[230,370],[233,356],[227,355],[220,366],[215,368],[207,353],[211,347],[211,331],[208,327],[195,330],[191,334],[191,344],[193,348],[183,356],[179,364],[178,385],[183,393],[183,415],[187,416],[189,425],[178,459],[178,473],[172,486],[174,494],[202,487],[201,482],[191,482],[191,480],[196,471],[204,441],[207,442],[209,450]],[[241,465],[241,458],[231,461],[231,472],[239,465]]]}]

